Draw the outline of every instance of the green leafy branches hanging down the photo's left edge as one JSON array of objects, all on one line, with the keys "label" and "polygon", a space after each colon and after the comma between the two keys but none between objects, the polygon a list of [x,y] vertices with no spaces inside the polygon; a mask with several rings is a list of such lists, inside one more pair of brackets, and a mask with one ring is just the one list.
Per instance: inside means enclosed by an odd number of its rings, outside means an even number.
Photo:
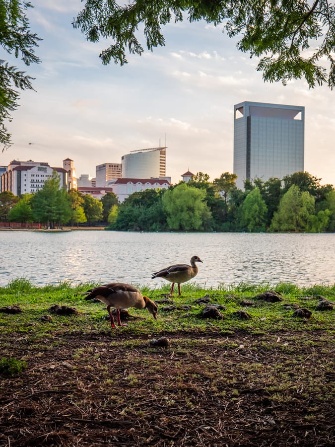
[{"label": "green leafy branches hanging down the photo's left edge", "polygon": [[[29,2],[21,0],[0,0],[0,44],[15,58],[21,56],[25,65],[40,62],[34,54],[34,47],[41,40],[30,32],[26,10],[32,7]],[[4,120],[11,121],[11,112],[18,107],[20,90],[33,90],[33,78],[10,66],[8,62],[0,60],[0,143],[2,151],[10,144],[11,135],[8,133]]]}]

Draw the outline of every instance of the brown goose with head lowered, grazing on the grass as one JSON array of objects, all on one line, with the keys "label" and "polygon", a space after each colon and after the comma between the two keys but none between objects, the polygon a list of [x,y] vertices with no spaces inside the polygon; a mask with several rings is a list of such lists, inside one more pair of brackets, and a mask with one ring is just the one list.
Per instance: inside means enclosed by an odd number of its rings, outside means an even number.
[{"label": "brown goose with head lowered, grazing on the grass", "polygon": [[111,283],[103,286],[94,287],[94,289],[86,292],[85,299],[99,299],[107,304],[107,311],[111,319],[111,326],[116,327],[114,317],[111,313],[111,307],[116,309],[116,317],[119,326],[127,326],[122,324],[120,319],[120,309],[127,309],[128,307],[135,307],[136,309],[143,309],[146,307],[152,313],[154,319],[157,319],[157,306],[148,297],[143,297],[142,294],[133,286],[124,283]]}]

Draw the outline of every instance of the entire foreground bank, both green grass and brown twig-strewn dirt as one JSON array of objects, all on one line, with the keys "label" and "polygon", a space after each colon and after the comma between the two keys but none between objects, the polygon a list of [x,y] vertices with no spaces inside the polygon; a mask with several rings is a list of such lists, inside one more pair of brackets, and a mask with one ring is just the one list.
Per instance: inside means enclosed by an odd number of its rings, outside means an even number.
[{"label": "entire foreground bank, both green grass and brown twig-strewn dirt", "polygon": [[[317,306],[335,301],[335,286],[142,288],[158,320],[130,309],[119,329],[83,299],[91,286],[0,288],[0,306],[21,309],[0,313],[12,367],[0,365],[1,446],[334,445],[335,311]],[[282,300],[256,298],[268,290]],[[201,318],[199,298],[224,306],[222,318]],[[54,314],[55,304],[78,313]],[[159,337],[169,345],[150,343]]]}]

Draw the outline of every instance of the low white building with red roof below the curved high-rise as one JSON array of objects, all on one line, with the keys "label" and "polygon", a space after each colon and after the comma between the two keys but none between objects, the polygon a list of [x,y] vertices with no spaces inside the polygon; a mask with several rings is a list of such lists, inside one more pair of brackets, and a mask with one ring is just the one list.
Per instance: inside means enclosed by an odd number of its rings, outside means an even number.
[{"label": "low white building with red roof below the curved high-rise", "polygon": [[168,180],[158,178],[119,178],[114,182],[109,182],[119,202],[123,202],[134,192],[146,189],[168,189],[170,185]]}]

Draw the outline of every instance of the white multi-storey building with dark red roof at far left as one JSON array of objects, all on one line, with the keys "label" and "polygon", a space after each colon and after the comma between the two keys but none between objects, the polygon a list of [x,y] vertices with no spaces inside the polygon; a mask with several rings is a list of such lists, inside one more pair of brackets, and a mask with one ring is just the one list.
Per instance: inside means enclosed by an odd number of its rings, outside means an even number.
[{"label": "white multi-storey building with dark red roof at far left", "polygon": [[51,167],[48,163],[33,160],[13,160],[8,164],[7,171],[1,175],[1,191],[11,191],[16,196],[36,193],[53,176],[54,171],[60,178],[60,187],[67,188],[67,170],[64,168]]}]

